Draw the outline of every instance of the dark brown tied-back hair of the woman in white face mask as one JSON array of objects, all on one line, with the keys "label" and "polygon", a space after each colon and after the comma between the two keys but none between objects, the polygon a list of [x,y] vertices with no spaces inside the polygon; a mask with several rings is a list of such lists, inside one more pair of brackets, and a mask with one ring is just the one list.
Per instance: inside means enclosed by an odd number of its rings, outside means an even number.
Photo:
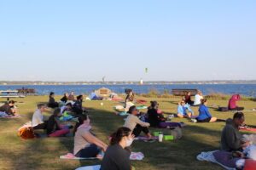
[{"label": "dark brown tied-back hair of the woman in white face mask", "polygon": [[131,133],[131,129],[128,127],[119,127],[119,129],[115,132],[112,133],[111,135],[111,140],[110,144],[119,144],[119,142],[125,137],[129,136]]}]

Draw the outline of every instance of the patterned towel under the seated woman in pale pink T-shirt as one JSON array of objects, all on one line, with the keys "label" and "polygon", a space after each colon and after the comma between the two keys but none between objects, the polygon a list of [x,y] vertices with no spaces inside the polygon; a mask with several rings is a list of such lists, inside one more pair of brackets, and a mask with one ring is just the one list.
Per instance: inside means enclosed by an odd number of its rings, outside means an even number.
[{"label": "patterned towel under the seated woman in pale pink T-shirt", "polygon": [[[142,152],[131,152],[130,160],[133,161],[141,161],[144,159],[144,154]],[[103,156],[99,157],[76,157],[72,153],[68,153],[65,156],[60,156],[60,159],[73,159],[73,160],[95,160],[95,159],[102,159]]]}]

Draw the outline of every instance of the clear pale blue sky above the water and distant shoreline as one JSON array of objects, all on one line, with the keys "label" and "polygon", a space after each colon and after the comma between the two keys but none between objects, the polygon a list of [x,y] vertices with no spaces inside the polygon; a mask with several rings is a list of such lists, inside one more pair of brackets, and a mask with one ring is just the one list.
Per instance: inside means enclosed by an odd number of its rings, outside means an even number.
[{"label": "clear pale blue sky above the water and distant shoreline", "polygon": [[255,8],[254,0],[0,0],[0,80],[256,80]]}]

